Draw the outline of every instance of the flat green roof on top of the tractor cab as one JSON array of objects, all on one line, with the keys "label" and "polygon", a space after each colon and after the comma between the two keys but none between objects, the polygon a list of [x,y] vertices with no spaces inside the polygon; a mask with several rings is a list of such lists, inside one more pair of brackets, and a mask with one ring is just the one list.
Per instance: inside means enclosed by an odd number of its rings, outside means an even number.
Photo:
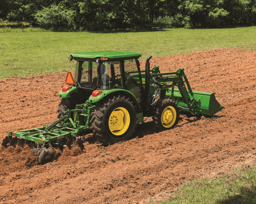
[{"label": "flat green roof on top of the tractor cab", "polygon": [[74,60],[87,61],[89,59],[97,59],[101,57],[106,57],[108,60],[111,59],[127,59],[127,58],[139,58],[141,53],[139,52],[123,52],[123,51],[97,51],[97,52],[75,52],[70,54],[74,57]]}]

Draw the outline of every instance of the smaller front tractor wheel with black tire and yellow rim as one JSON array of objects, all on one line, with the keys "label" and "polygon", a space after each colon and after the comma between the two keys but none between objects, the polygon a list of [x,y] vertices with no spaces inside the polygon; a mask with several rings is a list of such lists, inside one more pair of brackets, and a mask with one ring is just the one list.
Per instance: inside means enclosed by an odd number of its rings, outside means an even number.
[{"label": "smaller front tractor wheel with black tire and yellow rim", "polygon": [[171,99],[162,100],[157,106],[153,121],[158,130],[169,130],[179,121],[179,109]]}]

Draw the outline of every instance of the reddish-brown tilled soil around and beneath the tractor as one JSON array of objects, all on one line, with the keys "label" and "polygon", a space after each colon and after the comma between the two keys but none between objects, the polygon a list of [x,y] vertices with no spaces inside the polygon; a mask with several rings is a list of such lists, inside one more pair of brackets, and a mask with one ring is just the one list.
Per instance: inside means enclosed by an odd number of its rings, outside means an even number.
[{"label": "reddish-brown tilled soil around and beneath the tractor", "polygon": [[[145,61],[140,61],[144,69]],[[168,199],[185,181],[218,177],[255,159],[256,51],[213,49],[153,58],[161,72],[180,67],[193,90],[214,92],[225,107],[212,117],[181,112],[159,132],[152,118],[126,142],[103,147],[92,132],[84,149],[66,147],[37,165],[29,146],[0,146],[0,203],[143,203]],[[0,139],[8,131],[56,120],[66,72],[0,80]]]}]

